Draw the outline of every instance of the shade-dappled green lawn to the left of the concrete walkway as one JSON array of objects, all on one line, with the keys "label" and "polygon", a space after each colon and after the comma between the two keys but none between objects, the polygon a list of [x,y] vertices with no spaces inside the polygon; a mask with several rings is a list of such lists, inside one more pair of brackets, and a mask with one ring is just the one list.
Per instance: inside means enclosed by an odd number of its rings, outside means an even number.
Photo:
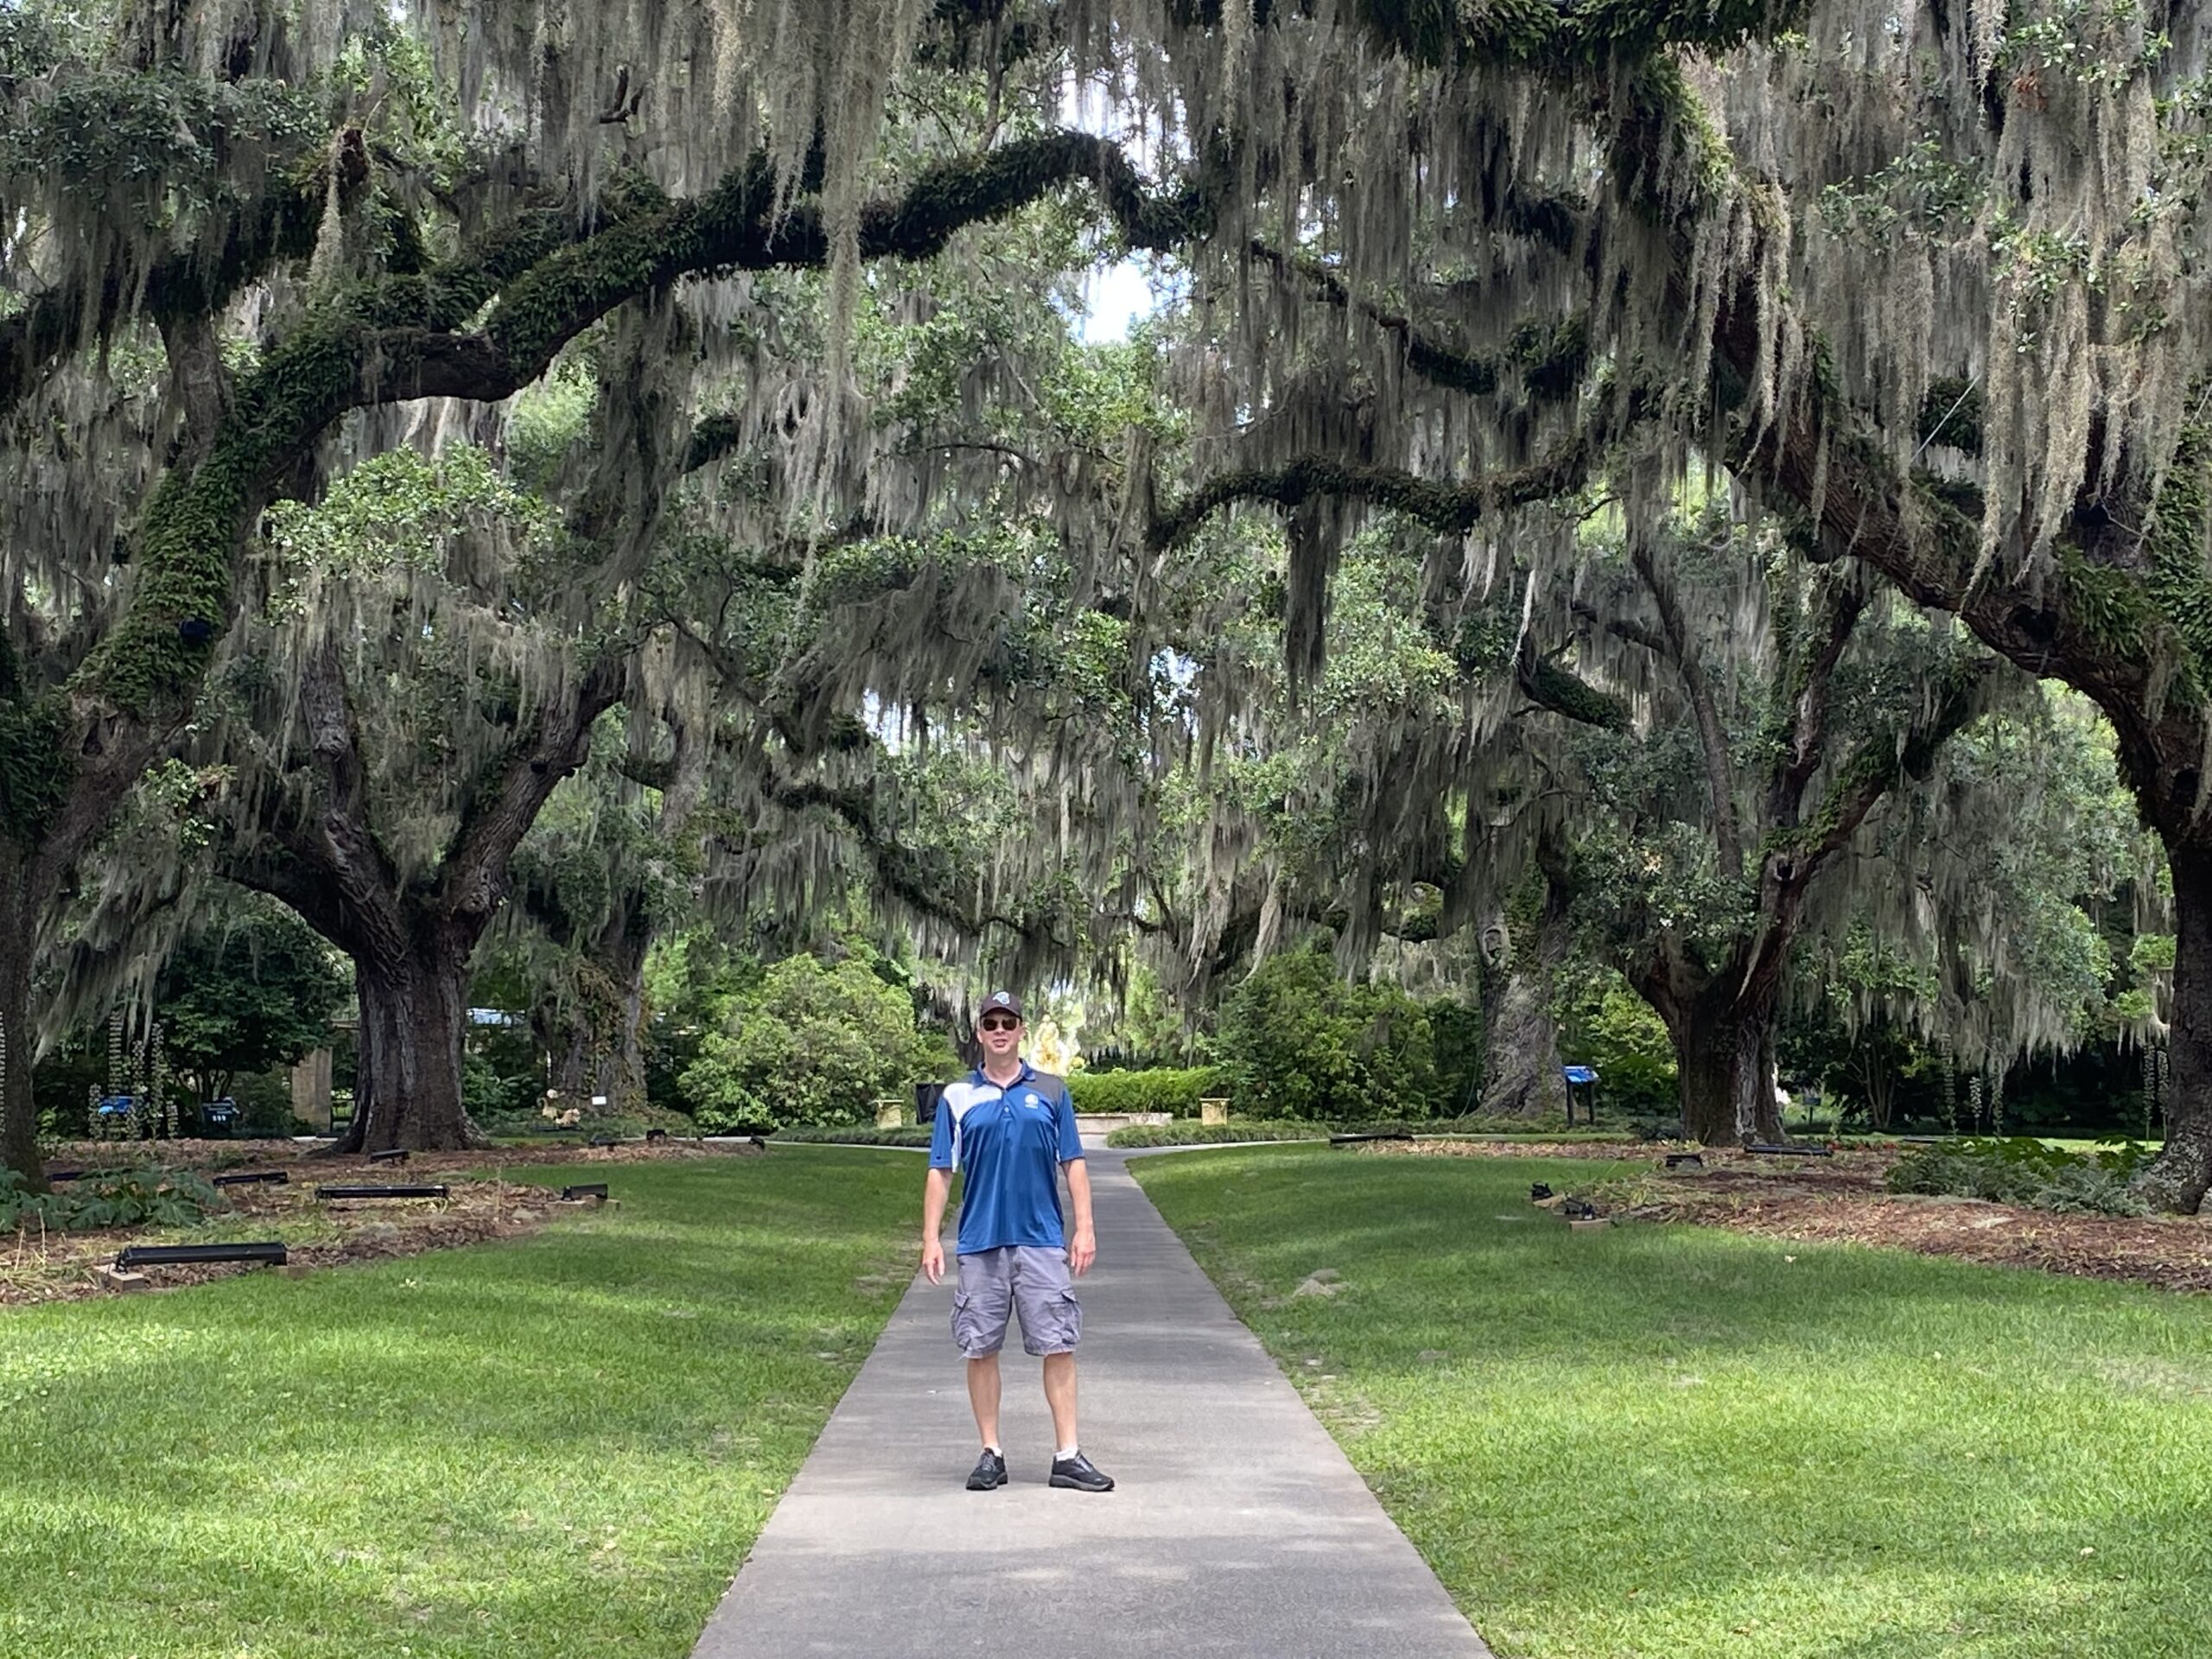
[{"label": "shade-dappled green lawn to the left of the concrete walkway", "polygon": [[591,1179],[622,1206],[524,1241],[0,1312],[0,1655],[688,1655],[905,1290],[920,1181]]}]

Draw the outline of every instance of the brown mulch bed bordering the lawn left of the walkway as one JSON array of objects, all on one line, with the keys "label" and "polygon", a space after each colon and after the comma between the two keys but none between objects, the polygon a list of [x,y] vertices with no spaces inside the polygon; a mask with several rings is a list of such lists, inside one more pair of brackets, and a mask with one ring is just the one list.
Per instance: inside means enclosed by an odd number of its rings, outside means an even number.
[{"label": "brown mulch bed bordering the lawn left of the walkway", "polygon": [[[471,1170],[526,1164],[664,1164],[699,1157],[759,1157],[752,1146],[701,1146],[697,1141],[653,1141],[624,1146],[498,1146],[476,1152],[414,1152],[405,1164],[369,1164],[365,1157],[316,1155],[299,1141],[82,1141],[62,1146],[51,1168],[111,1170],[161,1164],[201,1175],[281,1168],[290,1186],[230,1186],[230,1212],[210,1219],[223,1241],[283,1239],[285,1272],[332,1267],[347,1261],[414,1256],[425,1250],[515,1239],[535,1232],[573,1206],[557,1190],[498,1179],[449,1181],[445,1199],[369,1199],[321,1203],[321,1183],[436,1183]],[[619,1197],[619,1194],[617,1194]],[[0,1305],[113,1296],[100,1270],[133,1243],[199,1243],[204,1230],[108,1228],[100,1232],[42,1234],[24,1230],[0,1239]],[[148,1290],[201,1285],[257,1272],[243,1263],[148,1267]]]}]

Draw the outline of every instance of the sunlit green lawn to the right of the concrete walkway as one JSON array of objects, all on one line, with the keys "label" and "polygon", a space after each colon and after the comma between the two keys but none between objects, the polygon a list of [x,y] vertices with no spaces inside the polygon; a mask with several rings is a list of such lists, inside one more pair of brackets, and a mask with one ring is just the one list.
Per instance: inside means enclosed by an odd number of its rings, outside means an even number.
[{"label": "sunlit green lawn to the right of the concrete walkway", "polygon": [[1610,1164],[1130,1168],[1500,1655],[2212,1655],[2212,1298],[1526,1201]]}]

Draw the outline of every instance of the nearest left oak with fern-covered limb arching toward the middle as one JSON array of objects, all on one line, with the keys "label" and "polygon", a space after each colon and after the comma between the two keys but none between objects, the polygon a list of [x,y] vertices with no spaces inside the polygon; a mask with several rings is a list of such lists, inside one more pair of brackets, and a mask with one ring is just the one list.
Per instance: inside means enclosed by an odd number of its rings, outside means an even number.
[{"label": "nearest left oak with fern-covered limb arching toward the middle", "polygon": [[[914,9],[880,31],[796,20],[765,40],[741,40],[734,20],[639,38],[639,20],[608,15],[611,33],[586,27],[551,58],[487,22],[429,24],[425,53],[383,18],[7,15],[4,192],[20,230],[0,398],[24,482],[0,655],[11,938],[51,927],[77,858],[184,730],[241,608],[250,531],[268,502],[312,487],[319,445],[349,411],[504,400],[599,319],[688,276],[830,268],[843,325],[863,261],[929,257],[1062,188],[1095,186],[1139,241],[1188,217],[1079,133],[920,164],[869,197],[880,84],[914,40]],[[520,51],[487,53],[487,40]],[[717,64],[708,108],[721,113],[672,97],[655,117],[677,142],[659,148],[628,126],[641,86],[619,108],[584,108],[644,77],[646,46],[670,53],[659,69],[699,49]],[[836,142],[818,148],[823,119]],[[150,389],[117,387],[115,345],[150,358]],[[113,438],[84,445],[86,420]],[[823,411],[803,434],[814,473],[834,471],[838,427]],[[316,699],[343,768],[330,675]],[[551,787],[540,779],[573,768],[588,719],[571,728],[529,734],[544,770],[495,812],[502,836]],[[460,869],[451,900],[476,918],[495,894]],[[0,960],[0,1020],[18,1033],[4,1159],[35,1175],[29,953]],[[398,1077],[414,1082],[405,1066]],[[440,1124],[427,1133],[451,1133],[442,1110]]]}]

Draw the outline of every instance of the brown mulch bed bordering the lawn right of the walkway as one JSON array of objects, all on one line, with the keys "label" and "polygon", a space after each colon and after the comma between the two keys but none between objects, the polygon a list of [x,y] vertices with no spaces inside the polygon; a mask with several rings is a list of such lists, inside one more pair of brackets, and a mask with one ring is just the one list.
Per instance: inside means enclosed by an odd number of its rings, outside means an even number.
[{"label": "brown mulch bed bordering the lawn right of the walkway", "polygon": [[1584,1157],[1639,1159],[1650,1175],[1593,1183],[1615,1221],[1692,1221],[1765,1239],[1843,1241],[1918,1250],[1997,1267],[2037,1267],[2161,1290],[2212,1290],[2212,1214],[2055,1214],[1982,1199],[1929,1199],[1882,1190],[1891,1148],[1845,1148],[1825,1159],[1776,1159],[1708,1150],[1703,1170],[1666,1170],[1650,1146],[1500,1146],[1416,1141],[1376,1146],[1380,1157]]}]

